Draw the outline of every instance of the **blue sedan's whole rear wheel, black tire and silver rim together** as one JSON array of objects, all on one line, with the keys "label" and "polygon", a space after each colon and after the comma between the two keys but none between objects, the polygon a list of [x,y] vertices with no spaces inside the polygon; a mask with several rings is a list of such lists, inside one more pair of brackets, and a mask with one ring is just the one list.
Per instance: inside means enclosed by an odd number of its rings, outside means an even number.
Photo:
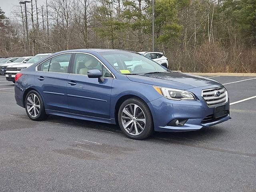
[{"label": "blue sedan's whole rear wheel, black tire and silver rim together", "polygon": [[[34,98],[34,96],[36,97]],[[37,91],[33,90],[28,92],[25,98],[24,106],[28,117],[33,121],[42,121],[46,119],[47,115],[44,110],[44,103],[42,97]]]}]

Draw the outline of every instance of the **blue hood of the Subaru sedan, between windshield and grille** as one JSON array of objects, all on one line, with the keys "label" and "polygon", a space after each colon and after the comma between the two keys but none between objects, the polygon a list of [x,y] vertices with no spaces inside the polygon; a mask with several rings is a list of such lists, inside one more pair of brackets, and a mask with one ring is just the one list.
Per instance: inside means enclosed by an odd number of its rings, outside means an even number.
[{"label": "blue hood of the Subaru sedan, between windshield and grille", "polygon": [[206,77],[184,74],[179,72],[145,75],[127,75],[127,78],[134,82],[182,90],[203,86],[222,86],[222,84],[220,84],[219,82]]}]

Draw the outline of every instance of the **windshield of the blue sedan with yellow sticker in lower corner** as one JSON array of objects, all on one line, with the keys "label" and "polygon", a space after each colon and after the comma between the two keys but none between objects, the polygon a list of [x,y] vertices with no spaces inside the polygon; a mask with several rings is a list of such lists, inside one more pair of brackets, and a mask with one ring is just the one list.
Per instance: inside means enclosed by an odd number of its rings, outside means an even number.
[{"label": "windshield of the blue sedan with yellow sticker in lower corner", "polygon": [[166,68],[138,53],[115,51],[100,53],[120,74],[168,72]]}]

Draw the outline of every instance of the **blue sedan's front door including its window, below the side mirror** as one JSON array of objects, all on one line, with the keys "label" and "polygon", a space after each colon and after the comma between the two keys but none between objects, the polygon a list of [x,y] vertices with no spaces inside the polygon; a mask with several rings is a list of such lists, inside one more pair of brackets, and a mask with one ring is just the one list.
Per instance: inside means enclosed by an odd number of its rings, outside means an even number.
[{"label": "blue sedan's front door including its window, below the side mirror", "polygon": [[[88,78],[87,71],[98,69],[104,82]],[[91,54],[76,53],[67,81],[69,112],[98,118],[110,118],[111,72]]]}]

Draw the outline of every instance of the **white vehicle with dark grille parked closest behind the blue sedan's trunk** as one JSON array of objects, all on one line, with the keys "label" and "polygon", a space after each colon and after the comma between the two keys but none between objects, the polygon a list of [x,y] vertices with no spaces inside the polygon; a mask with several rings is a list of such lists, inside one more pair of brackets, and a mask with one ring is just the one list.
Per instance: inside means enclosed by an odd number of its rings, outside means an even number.
[{"label": "white vehicle with dark grille parked closest behind the blue sedan's trunk", "polygon": [[20,70],[31,66],[32,64],[40,61],[41,59],[45,58],[46,56],[48,56],[50,54],[52,54],[52,53],[41,53],[41,54],[35,55],[30,60],[28,60],[26,63],[16,64],[16,65],[10,64],[10,66],[7,66],[7,68],[6,68],[6,72],[5,72],[6,80],[12,81],[13,83],[15,83],[15,75],[18,72],[20,72]]}]

